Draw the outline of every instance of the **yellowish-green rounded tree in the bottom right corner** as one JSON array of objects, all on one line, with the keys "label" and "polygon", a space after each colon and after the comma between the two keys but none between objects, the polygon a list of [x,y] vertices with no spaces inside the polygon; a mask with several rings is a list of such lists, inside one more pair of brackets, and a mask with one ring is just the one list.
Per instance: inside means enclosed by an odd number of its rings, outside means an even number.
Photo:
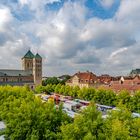
[{"label": "yellowish-green rounded tree in the bottom right corner", "polygon": [[140,139],[140,118],[133,118],[132,113],[124,106],[109,113],[104,122],[104,134],[107,140]]}]

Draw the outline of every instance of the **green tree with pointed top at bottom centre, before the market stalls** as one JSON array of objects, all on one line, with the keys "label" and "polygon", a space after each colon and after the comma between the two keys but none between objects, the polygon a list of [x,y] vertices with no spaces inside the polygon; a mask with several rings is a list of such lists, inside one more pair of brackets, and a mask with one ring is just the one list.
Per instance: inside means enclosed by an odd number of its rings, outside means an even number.
[{"label": "green tree with pointed top at bottom centre, before the market stalls", "polygon": [[75,117],[74,122],[63,125],[62,139],[64,140],[96,140],[103,139],[103,119],[94,104]]}]

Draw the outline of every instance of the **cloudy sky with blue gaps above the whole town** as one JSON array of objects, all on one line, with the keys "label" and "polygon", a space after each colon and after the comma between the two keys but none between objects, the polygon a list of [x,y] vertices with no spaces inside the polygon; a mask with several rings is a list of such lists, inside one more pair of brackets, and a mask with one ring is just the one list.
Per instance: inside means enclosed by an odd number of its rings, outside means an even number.
[{"label": "cloudy sky with blue gaps above the whole town", "polygon": [[140,68],[140,0],[0,0],[0,68],[30,49],[43,76]]}]

